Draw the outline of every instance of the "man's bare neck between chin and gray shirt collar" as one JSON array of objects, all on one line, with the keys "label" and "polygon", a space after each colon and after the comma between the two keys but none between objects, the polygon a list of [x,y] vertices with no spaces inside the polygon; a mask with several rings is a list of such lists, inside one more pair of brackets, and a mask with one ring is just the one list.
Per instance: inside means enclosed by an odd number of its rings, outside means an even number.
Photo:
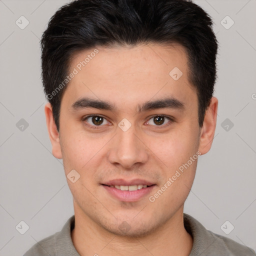
[{"label": "man's bare neck between chin and gray shirt collar", "polygon": [[[74,205],[75,206],[75,205]],[[108,232],[74,207],[75,227],[71,238],[81,256],[179,255],[188,256],[193,239],[183,224],[183,205],[164,224],[143,237],[118,236]],[[118,249],[117,249],[118,248]]]}]

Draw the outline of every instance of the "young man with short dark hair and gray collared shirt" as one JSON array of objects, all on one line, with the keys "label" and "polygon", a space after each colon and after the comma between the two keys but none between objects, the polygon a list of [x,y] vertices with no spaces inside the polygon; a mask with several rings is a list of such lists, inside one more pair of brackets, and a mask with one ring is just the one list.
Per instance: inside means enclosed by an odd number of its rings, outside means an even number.
[{"label": "young man with short dark hair and gray collared shirt", "polygon": [[74,216],[24,255],[255,255],[183,213],[209,151],[217,41],[185,0],[76,0],[44,31],[52,153]]}]

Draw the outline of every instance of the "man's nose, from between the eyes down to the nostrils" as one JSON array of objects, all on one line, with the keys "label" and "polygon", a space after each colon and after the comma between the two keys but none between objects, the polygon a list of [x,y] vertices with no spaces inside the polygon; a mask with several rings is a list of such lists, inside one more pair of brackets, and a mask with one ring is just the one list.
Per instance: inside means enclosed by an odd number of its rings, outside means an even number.
[{"label": "man's nose, from between the eyes down to the nostrils", "polygon": [[132,169],[134,164],[141,165],[149,158],[149,149],[135,125],[126,131],[117,127],[108,152],[108,160],[112,164],[120,164],[123,168]]}]

